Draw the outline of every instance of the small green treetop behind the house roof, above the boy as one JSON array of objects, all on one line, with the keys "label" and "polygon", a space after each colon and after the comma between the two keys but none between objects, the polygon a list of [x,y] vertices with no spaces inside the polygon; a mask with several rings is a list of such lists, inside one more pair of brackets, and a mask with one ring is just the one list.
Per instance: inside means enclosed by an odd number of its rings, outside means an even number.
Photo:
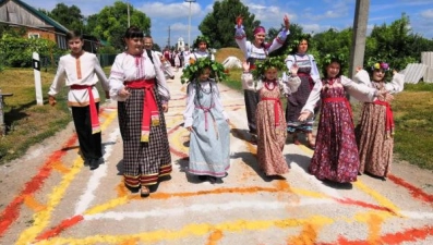
[{"label": "small green treetop behind the house roof, above the boy", "polygon": [[57,3],[51,12],[46,12],[49,17],[59,22],[68,29],[84,30],[84,16],[76,5],[68,7],[64,3]]}]

